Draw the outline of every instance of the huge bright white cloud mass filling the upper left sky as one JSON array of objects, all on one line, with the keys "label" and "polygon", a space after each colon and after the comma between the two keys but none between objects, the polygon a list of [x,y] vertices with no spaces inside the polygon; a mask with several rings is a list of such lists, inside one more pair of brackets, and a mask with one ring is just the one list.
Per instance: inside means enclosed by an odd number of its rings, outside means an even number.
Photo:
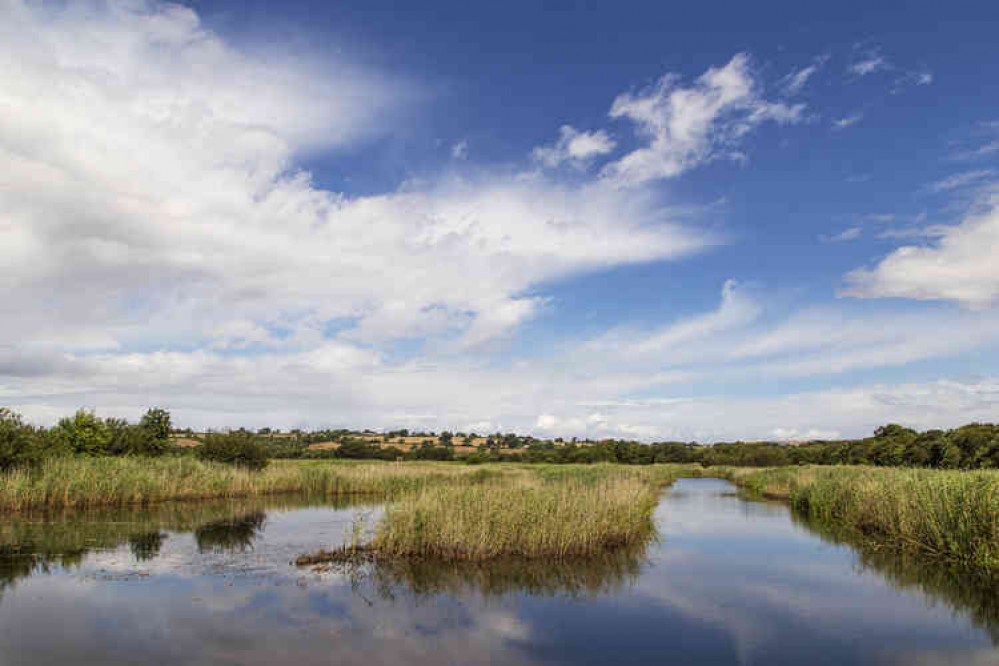
[{"label": "huge bright white cloud mass filling the upper left sky", "polygon": [[536,311],[533,284],[707,242],[599,184],[324,190],[294,158],[380,131],[405,82],[256,57],[175,5],[2,11],[0,344],[307,348],[336,320],[474,345]]}]

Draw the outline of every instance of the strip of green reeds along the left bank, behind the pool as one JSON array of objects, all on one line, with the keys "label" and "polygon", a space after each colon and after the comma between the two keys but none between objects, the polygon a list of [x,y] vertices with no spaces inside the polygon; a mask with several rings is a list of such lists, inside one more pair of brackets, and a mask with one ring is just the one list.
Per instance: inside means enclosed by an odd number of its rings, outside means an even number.
[{"label": "strip of green reeds along the left bank, behind the pool", "polygon": [[426,485],[482,483],[513,470],[434,463],[276,462],[261,472],[188,457],[46,460],[0,474],[0,512],[250,497],[282,492],[395,497]]}]

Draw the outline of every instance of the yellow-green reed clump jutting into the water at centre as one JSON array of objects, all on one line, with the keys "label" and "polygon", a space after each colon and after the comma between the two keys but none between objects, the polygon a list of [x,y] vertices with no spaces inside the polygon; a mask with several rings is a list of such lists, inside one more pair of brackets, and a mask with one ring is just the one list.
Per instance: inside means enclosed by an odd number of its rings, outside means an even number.
[{"label": "yellow-green reed clump jutting into the water at centre", "polygon": [[432,486],[391,504],[369,549],[384,557],[568,559],[648,540],[657,503],[637,478]]}]

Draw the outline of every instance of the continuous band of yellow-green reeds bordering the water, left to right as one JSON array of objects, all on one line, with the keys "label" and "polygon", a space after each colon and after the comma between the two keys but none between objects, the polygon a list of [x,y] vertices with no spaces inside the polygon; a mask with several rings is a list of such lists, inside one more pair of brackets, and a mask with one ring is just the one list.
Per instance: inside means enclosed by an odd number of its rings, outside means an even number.
[{"label": "continuous band of yellow-green reeds bordering the water, left to right", "polygon": [[0,475],[0,513],[291,492],[368,495],[392,503],[378,540],[368,544],[385,552],[568,556],[643,538],[658,489],[686,476],[720,477],[789,501],[802,516],[885,547],[999,570],[999,471],[274,461],[251,472],[187,456],[61,457]]}]

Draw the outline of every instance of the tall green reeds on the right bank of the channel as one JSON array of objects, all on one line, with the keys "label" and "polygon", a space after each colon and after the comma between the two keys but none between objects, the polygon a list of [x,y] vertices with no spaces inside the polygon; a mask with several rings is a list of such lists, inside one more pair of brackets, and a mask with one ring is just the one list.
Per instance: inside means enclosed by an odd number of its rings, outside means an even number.
[{"label": "tall green reeds on the right bank of the channel", "polygon": [[875,467],[728,468],[720,475],[786,499],[813,520],[889,546],[999,569],[999,472]]}]

